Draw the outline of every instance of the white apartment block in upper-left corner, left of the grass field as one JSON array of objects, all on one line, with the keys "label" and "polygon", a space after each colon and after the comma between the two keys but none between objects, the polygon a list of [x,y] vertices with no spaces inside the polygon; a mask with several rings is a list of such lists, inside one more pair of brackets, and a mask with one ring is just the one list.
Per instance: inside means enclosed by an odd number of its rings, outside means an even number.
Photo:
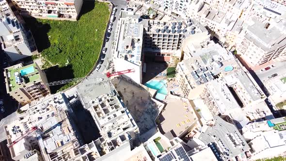
[{"label": "white apartment block in upper-left corner, left of the grass field", "polygon": [[0,44],[13,62],[37,53],[32,33],[22,23],[22,17],[13,13],[7,1],[0,0]]}]

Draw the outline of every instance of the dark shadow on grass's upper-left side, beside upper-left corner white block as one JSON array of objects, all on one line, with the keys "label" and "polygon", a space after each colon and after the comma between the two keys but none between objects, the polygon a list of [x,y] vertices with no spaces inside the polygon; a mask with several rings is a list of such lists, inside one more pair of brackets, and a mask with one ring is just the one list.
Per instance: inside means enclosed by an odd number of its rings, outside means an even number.
[{"label": "dark shadow on grass's upper-left side, beside upper-left corner white block", "polygon": [[25,16],[23,19],[26,22],[26,27],[32,32],[38,52],[42,52],[44,49],[49,48],[50,42],[48,40],[48,32],[51,29],[50,25],[43,24],[32,16]]}]

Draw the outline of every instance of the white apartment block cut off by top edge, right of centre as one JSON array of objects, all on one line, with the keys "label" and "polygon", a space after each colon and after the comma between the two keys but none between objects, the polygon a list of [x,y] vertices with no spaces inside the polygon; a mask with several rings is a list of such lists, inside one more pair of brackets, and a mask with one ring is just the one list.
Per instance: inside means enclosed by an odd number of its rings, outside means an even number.
[{"label": "white apartment block cut off by top edge, right of centre", "polygon": [[154,3],[158,3],[161,7],[163,7],[164,11],[168,13],[175,13],[183,18],[186,18],[191,0],[154,0]]}]

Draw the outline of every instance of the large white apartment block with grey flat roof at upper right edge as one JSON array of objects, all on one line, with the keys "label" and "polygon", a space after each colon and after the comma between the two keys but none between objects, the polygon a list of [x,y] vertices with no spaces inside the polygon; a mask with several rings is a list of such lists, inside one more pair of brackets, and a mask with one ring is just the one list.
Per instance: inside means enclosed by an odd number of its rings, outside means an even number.
[{"label": "large white apartment block with grey flat roof at upper right edge", "polygon": [[237,42],[238,54],[251,66],[269,62],[286,55],[286,34],[276,27],[267,28],[254,23],[241,32]]}]

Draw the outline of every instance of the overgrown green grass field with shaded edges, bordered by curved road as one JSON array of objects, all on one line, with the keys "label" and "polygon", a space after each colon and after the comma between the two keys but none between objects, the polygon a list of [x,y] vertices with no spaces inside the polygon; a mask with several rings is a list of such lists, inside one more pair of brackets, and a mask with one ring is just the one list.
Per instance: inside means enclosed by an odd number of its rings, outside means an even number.
[{"label": "overgrown green grass field with shaded edges, bordered by curved road", "polygon": [[[57,69],[46,71],[51,73],[47,74],[49,82],[84,77],[92,70],[100,54],[109,16],[108,3],[84,1],[78,21],[25,19],[38,51],[47,60],[45,66],[48,67],[47,62],[58,65]],[[65,71],[61,70],[64,67]],[[66,84],[60,90],[71,85]]]}]

